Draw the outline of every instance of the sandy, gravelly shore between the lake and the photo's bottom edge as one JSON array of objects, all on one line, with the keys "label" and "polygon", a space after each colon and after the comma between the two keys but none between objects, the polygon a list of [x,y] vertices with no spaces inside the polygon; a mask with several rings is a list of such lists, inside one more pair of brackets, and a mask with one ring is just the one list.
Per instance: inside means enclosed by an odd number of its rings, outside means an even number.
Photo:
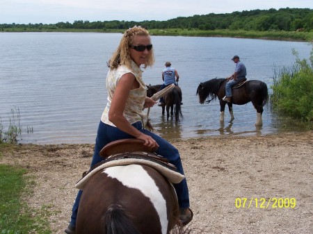
[{"label": "sandy, gravelly shore between the lake and the photo's bottom edge", "polygon": [[[313,131],[170,142],[181,153],[193,233],[313,233]],[[29,169],[35,191],[26,202],[49,207],[53,233],[63,233],[92,155],[90,144],[24,144],[0,163]]]}]

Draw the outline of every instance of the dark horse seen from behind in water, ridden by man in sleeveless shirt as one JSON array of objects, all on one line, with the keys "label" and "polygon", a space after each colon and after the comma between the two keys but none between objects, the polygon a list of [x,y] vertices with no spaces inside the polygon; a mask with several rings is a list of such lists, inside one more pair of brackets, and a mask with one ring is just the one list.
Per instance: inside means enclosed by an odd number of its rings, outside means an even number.
[{"label": "dark horse seen from behind in water, ridden by man in sleeveless shirt", "polygon": [[[161,85],[147,85],[147,97],[152,97],[153,94],[157,93]],[[177,85],[172,89],[172,92],[169,92],[164,97],[164,103],[166,106],[162,106],[162,115],[165,114],[167,120],[170,116],[175,115],[175,122],[179,122],[184,119],[182,115],[182,89]]]}]

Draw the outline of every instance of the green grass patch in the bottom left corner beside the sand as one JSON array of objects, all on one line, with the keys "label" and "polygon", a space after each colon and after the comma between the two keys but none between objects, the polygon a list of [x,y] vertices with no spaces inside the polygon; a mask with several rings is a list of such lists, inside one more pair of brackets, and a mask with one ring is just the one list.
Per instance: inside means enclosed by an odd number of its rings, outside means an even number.
[{"label": "green grass patch in the bottom left corner beside the sand", "polygon": [[47,217],[51,215],[49,206],[41,210],[29,208],[21,199],[31,192],[33,181],[26,176],[26,169],[0,165],[0,233],[1,234],[49,234]]}]

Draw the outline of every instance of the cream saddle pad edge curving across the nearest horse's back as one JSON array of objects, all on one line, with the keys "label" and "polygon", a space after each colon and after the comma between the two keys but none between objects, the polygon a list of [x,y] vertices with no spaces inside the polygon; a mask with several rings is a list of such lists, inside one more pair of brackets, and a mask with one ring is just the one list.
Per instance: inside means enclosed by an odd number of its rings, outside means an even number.
[{"label": "cream saddle pad edge curving across the nearest horse's back", "polygon": [[81,180],[76,183],[75,187],[79,190],[83,190],[83,187],[85,187],[86,183],[88,183],[88,180],[91,178],[91,176],[93,176],[93,174],[96,174],[102,169],[131,164],[146,165],[152,167],[153,169],[156,169],[161,175],[168,178],[168,181],[170,181],[171,183],[180,183],[185,178],[185,176],[180,174],[179,172],[175,172],[174,170],[164,167],[157,162],[145,160],[143,158],[121,158],[118,160],[105,162],[102,165],[99,165],[91,172],[86,174],[85,177],[81,178]]}]

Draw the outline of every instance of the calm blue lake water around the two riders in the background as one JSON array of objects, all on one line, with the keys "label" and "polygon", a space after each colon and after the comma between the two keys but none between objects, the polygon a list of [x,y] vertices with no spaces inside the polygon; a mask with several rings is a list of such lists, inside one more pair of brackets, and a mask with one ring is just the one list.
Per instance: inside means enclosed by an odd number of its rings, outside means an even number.
[{"label": "calm blue lake water around the two riders in the background", "polygon": [[[19,112],[22,143],[93,143],[106,106],[106,61],[118,46],[120,33],[0,33],[0,117],[5,132]],[[219,122],[219,103],[201,105],[195,92],[200,82],[225,78],[234,72],[230,60],[239,55],[248,79],[264,81],[271,93],[275,69],[294,63],[292,49],[309,58],[307,42],[281,42],[219,37],[152,36],[156,63],[143,73],[145,83],[161,84],[166,61],[179,73],[184,121],[167,122],[154,106],[150,118],[166,139],[208,135],[262,135],[285,131],[284,119],[267,104],[261,128],[255,127],[251,103],[234,105],[234,121],[225,112]],[[288,129],[293,126],[288,126]],[[33,133],[27,133],[33,128]],[[296,129],[295,130],[299,130]]]}]

